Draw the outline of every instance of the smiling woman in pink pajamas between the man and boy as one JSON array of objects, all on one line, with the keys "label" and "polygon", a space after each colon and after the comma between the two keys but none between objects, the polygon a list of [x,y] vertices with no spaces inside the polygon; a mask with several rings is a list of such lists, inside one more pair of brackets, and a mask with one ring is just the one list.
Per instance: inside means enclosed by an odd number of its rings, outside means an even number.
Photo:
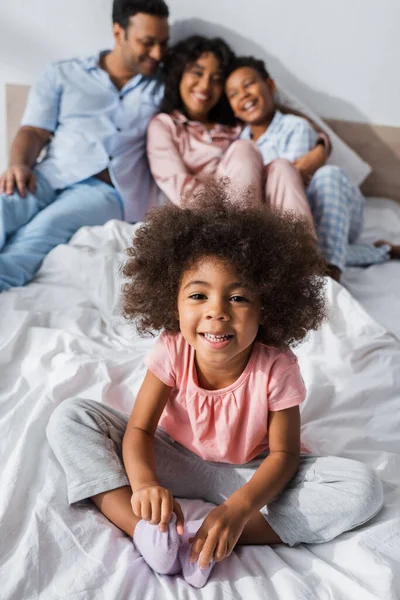
[{"label": "smiling woman in pink pajamas between the man and boy", "polygon": [[256,146],[238,139],[241,127],[224,95],[225,74],[232,59],[232,50],[220,38],[192,36],[171,48],[161,113],[147,133],[153,177],[167,198],[179,206],[183,198],[193,197],[190,192],[200,190],[206,179],[227,177],[236,187],[251,186],[255,205],[292,209],[307,216],[313,227],[296,169],[281,160],[266,173]]}]

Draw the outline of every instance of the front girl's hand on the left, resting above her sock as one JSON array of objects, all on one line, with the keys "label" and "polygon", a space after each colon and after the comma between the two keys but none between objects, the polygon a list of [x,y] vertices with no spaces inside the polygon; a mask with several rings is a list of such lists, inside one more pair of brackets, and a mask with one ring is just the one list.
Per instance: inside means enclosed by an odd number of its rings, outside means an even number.
[{"label": "front girl's hand on the left, resting above her sock", "polygon": [[166,531],[172,513],[176,514],[176,530],[183,534],[182,508],[169,490],[158,484],[149,484],[134,490],[131,497],[131,506],[134,515],[149,521],[152,525],[159,525],[159,530]]}]

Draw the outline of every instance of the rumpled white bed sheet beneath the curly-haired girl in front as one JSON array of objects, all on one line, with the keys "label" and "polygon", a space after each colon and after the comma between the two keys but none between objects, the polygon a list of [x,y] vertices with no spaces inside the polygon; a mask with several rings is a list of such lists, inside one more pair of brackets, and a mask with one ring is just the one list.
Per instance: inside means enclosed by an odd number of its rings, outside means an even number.
[{"label": "rumpled white bed sheet beneath the curly-haired girl in front", "polygon": [[[374,228],[398,237],[400,207],[370,202],[366,235]],[[152,343],[137,339],[115,309],[133,229],[116,221],[82,229],[50,253],[33,283],[0,295],[0,598],[398,598],[399,263],[348,271],[353,296],[328,280],[330,319],[297,349],[308,386],[306,443],[363,460],[382,477],[385,506],[370,524],[320,546],[240,548],[195,590],[155,575],[88,503],[68,507],[45,437],[52,411],[73,396],[129,411]],[[201,501],[183,505],[190,516],[208,510]]]}]

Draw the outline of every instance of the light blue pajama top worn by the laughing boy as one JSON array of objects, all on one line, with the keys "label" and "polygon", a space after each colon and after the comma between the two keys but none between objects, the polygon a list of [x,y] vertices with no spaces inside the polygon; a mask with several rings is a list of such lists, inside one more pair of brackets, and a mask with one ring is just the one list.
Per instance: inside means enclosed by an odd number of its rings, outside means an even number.
[{"label": "light blue pajama top worn by the laughing boy", "polygon": [[[240,137],[245,140],[251,138],[249,125],[243,129]],[[258,138],[256,144],[264,164],[268,165],[276,158],[287,158],[291,162],[297,160],[312,150],[318,139],[318,133],[306,119],[295,115],[283,115],[277,110],[268,129]]]}]

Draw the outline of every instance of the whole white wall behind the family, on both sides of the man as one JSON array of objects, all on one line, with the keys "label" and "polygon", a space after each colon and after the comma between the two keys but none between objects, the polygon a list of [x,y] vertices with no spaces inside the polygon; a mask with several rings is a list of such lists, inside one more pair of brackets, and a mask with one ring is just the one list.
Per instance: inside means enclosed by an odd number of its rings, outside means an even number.
[{"label": "whole white wall behind the family, on both sides of the man", "polygon": [[[187,33],[223,35],[267,59],[325,117],[400,126],[399,0],[170,0]],[[245,7],[245,9],[244,9]],[[4,84],[111,44],[111,0],[0,0],[0,167]],[[397,35],[396,35],[397,34]]]}]

